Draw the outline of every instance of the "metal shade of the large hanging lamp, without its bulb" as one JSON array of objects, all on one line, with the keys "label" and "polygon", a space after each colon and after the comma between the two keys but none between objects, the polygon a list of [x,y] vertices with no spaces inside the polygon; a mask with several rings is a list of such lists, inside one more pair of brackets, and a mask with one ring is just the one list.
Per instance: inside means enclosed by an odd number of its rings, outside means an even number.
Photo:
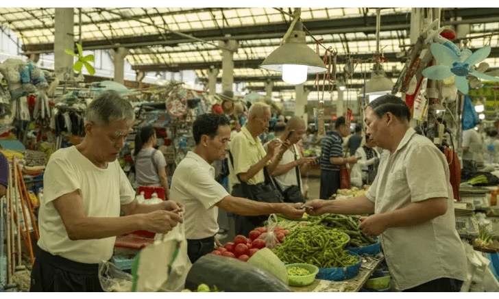
[{"label": "metal shade of the large hanging lamp, without its bulb", "polygon": [[282,73],[283,64],[307,66],[306,73],[322,73],[327,70],[326,64],[306,45],[304,31],[292,31],[284,44],[270,53],[260,65],[260,68]]}]

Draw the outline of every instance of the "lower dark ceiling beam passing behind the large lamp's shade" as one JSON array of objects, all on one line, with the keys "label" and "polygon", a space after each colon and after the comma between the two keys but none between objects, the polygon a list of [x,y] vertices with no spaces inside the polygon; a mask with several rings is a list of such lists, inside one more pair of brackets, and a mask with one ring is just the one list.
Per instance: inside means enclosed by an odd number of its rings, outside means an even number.
[{"label": "lower dark ceiling beam passing behind the large lamp's shade", "polygon": [[[473,52],[478,49],[471,49]],[[389,62],[403,62],[405,61],[405,57],[397,57],[398,53],[384,53],[384,56],[388,59]],[[372,53],[364,53],[364,54],[354,54],[352,57],[355,59],[367,60],[372,58]],[[494,47],[491,49],[489,57],[499,57],[499,47]],[[234,68],[258,68],[260,64],[263,62],[262,59],[254,59],[254,60],[234,60]],[[170,64],[167,66],[166,64],[146,64],[146,65],[134,65],[132,69],[141,70],[143,72],[178,72],[180,70],[204,70],[208,68],[222,68],[221,62],[186,62],[180,64]]]}]

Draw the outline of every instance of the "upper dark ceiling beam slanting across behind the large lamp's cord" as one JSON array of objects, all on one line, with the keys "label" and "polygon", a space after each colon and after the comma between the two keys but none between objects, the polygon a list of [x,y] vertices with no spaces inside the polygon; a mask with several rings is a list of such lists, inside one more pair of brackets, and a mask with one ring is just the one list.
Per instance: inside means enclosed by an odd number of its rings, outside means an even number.
[{"label": "upper dark ceiling beam slanting across behind the large lamp's cord", "polygon": [[[491,17],[499,15],[499,8],[459,8],[456,10],[446,10],[446,19],[450,16],[461,16],[461,21],[446,21],[446,25],[454,23],[491,23],[497,22],[497,18]],[[381,18],[381,31],[408,30],[410,27],[410,14],[385,14]],[[120,18],[119,21],[123,21]],[[366,25],[368,24],[368,25]],[[376,16],[358,16],[342,17],[322,20],[305,20],[304,25],[311,34],[345,34],[352,32],[363,32],[364,34],[374,34],[376,31]],[[193,29],[182,31],[182,34],[188,34],[195,38],[202,38],[206,41],[214,40],[259,40],[265,38],[282,38],[287,31],[287,23],[271,23],[267,25],[246,25],[240,27],[224,28],[225,36],[221,36],[217,27],[210,29]],[[19,29],[18,29],[19,30]],[[181,43],[191,43],[188,38],[179,38],[171,33],[165,33],[167,39],[162,34],[149,34],[145,36],[127,36],[112,38],[114,47],[127,47],[129,49],[150,47],[154,45],[175,46]],[[84,40],[84,49],[110,49],[109,41],[102,40]],[[23,51],[26,54],[53,52],[53,42],[42,44],[25,44]]]}]

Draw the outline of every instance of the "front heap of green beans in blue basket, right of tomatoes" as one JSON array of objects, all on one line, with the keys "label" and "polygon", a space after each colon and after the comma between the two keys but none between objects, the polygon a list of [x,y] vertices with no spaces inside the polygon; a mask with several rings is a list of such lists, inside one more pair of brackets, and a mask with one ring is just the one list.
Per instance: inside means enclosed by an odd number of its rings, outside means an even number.
[{"label": "front heap of green beans in blue basket, right of tomatoes", "polygon": [[289,233],[273,252],[284,263],[310,263],[319,268],[343,268],[358,263],[358,257],[343,250],[343,244],[347,241],[348,237],[337,229],[311,224]]}]

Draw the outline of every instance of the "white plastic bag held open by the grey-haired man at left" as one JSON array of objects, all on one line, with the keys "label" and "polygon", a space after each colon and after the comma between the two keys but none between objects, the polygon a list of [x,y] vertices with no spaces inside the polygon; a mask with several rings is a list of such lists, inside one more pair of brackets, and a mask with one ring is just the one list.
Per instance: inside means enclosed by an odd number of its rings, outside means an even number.
[{"label": "white plastic bag held open by the grey-haired man at left", "polygon": [[182,291],[192,266],[184,224],[165,235],[157,233],[154,239],[139,253],[135,291]]}]

